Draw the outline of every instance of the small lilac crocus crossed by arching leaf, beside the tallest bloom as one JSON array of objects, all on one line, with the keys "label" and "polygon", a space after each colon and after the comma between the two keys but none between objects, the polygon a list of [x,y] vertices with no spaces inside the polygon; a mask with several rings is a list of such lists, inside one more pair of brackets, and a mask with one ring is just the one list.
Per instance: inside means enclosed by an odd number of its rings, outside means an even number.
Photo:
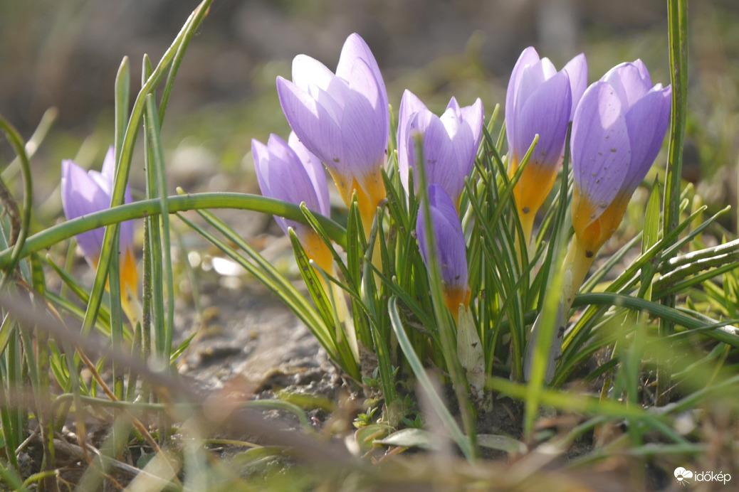
[{"label": "small lilac crocus crossed by arching leaf, beside the tallest bloom", "polygon": [[[270,135],[267,145],[251,141],[256,179],[262,195],[299,205],[321,215],[330,215],[328,187],[324,167],[294,133],[288,141]],[[275,215],[280,228],[287,234],[292,227],[308,256],[321,268],[330,271],[332,257],[326,245],[313,229],[296,221]]]}]

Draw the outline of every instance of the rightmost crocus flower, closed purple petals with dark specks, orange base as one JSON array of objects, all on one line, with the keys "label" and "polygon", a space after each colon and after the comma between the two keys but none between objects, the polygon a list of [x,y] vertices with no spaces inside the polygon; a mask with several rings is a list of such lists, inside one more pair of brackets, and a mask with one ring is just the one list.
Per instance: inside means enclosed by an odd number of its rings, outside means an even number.
[{"label": "rightmost crocus flower, closed purple petals with dark specks, orange base", "polygon": [[591,256],[621,224],[670,120],[672,88],[652,85],[641,60],[621,63],[582,96],[572,125],[573,226]]}]

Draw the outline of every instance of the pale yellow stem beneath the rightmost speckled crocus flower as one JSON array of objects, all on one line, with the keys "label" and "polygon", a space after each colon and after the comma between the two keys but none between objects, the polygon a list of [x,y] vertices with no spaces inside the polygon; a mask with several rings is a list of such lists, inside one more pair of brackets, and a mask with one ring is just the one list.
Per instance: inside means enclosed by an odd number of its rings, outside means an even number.
[{"label": "pale yellow stem beneath the rightmost speckled crocus flower", "polygon": [[[567,256],[565,256],[565,261],[562,265],[562,268],[564,268],[565,271],[562,278],[562,290],[559,296],[559,303],[557,305],[554,323],[552,324],[555,331],[547,358],[547,370],[545,373],[545,381],[547,383],[551,382],[554,378],[556,361],[559,356],[562,355],[562,338],[565,336],[565,328],[567,327],[567,322],[570,317],[572,302],[575,299],[575,294],[577,294],[577,291],[579,291],[580,286],[585,280],[585,276],[588,274],[590,265],[593,264],[594,257],[594,252],[588,252],[585,247],[582,246],[582,243],[577,240],[577,236],[574,235],[570,242]],[[539,313],[536,321],[534,321],[534,326],[531,327],[531,339],[529,339],[528,344],[526,344],[523,369],[526,381],[531,378],[531,364],[534,362],[534,350],[537,346],[541,323],[542,313]]]}]

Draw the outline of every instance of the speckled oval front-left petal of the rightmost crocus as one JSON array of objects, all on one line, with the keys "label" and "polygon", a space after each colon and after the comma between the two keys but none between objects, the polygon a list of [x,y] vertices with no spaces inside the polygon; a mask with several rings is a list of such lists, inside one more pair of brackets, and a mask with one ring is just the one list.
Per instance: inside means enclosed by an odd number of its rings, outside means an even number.
[{"label": "speckled oval front-left petal of the rightmost crocus", "polygon": [[631,148],[621,100],[610,84],[599,81],[582,96],[572,128],[575,185],[593,206],[595,221],[619,194]]}]

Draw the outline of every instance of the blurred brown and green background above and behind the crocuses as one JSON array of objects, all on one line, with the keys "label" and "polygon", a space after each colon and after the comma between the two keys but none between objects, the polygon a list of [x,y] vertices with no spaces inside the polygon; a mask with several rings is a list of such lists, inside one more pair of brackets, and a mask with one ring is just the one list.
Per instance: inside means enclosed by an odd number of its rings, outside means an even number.
[{"label": "blurred brown and green background above and behind the crocuses", "polygon": [[[58,111],[32,161],[41,215],[58,214],[60,160],[98,167],[112,144],[120,60],[129,56],[135,94],[143,54],[157,60],[196,5],[0,2],[0,114],[28,138],[48,108]],[[735,204],[739,2],[693,1],[689,21],[685,177],[700,181],[709,203]],[[185,55],[163,128],[172,191],[254,191],[251,139],[288,132],[275,77],[290,77],[299,53],[334,69],[351,32],[375,53],[396,111],[407,88],[437,111],[452,95],[463,105],[481,97],[488,117],[503,104],[511,69],[529,45],[558,67],[585,52],[591,82],[641,58],[655,83],[669,83],[667,1],[217,0]],[[0,140],[0,160],[12,158]],[[141,168],[134,163],[134,188]]]}]

